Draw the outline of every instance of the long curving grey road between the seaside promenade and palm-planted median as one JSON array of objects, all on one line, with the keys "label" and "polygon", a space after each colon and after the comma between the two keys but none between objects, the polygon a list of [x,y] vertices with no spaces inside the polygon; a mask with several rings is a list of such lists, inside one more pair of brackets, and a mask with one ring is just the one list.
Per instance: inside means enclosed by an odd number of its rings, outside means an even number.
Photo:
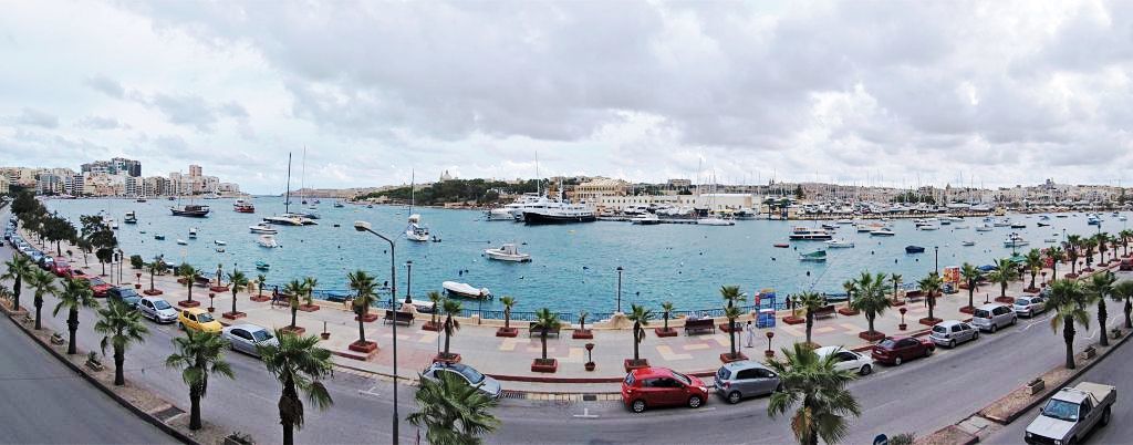
[{"label": "long curving grey road between the seaside promenade and palm-planted median", "polygon": [[[0,259],[10,256],[0,249]],[[25,299],[29,301],[31,299]],[[46,308],[56,299],[46,298]],[[1113,305],[1110,305],[1113,307]],[[1110,313],[1117,313],[1110,310]],[[53,330],[63,331],[65,313],[45,319]],[[99,337],[92,332],[94,315],[80,315],[79,346],[96,350]],[[152,333],[145,343],[127,353],[127,378],[154,390],[179,407],[188,407],[188,391],[179,370],[168,369],[163,360],[172,352],[171,339],[179,335],[172,326],[146,322]],[[1111,323],[1117,323],[1111,319]],[[1097,330],[1091,331],[1093,333]],[[1079,339],[1079,350],[1087,341]],[[206,421],[232,430],[250,433],[259,442],[281,439],[275,402],[279,384],[255,358],[229,354],[236,380],[214,377],[203,402]],[[956,350],[938,349],[934,357],[901,367],[879,366],[874,375],[850,385],[863,408],[852,421],[845,443],[870,443],[878,433],[914,431],[920,435],[951,425],[976,412],[1036,375],[1063,361],[1062,337],[1049,327],[1049,315],[1021,319],[1019,326],[985,333],[977,342]],[[334,405],[326,411],[307,410],[307,423],[297,433],[300,443],[386,443],[393,410],[389,382],[338,373],[327,382]],[[416,410],[412,387],[399,392],[400,414]],[[611,391],[616,391],[611,385]],[[793,436],[786,418],[770,419],[766,399],[729,405],[713,399],[698,410],[683,408],[653,410],[632,414],[616,402],[555,403],[503,400],[495,410],[501,429],[492,443],[790,443]],[[1119,417],[1118,417],[1119,418]],[[417,428],[402,422],[402,440],[416,439]]]}]

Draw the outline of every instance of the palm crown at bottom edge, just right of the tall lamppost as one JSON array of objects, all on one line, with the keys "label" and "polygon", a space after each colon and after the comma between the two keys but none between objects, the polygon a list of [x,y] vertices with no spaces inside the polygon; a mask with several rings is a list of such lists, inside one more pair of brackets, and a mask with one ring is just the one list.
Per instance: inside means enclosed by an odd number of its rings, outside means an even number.
[{"label": "palm crown at bottom edge, just right of the tall lamppost", "polygon": [[438,373],[440,378],[421,378],[415,399],[420,410],[406,420],[425,427],[431,444],[479,444],[479,436],[492,433],[500,420],[488,412],[496,400],[484,394],[480,385],[469,385],[452,373]]}]

